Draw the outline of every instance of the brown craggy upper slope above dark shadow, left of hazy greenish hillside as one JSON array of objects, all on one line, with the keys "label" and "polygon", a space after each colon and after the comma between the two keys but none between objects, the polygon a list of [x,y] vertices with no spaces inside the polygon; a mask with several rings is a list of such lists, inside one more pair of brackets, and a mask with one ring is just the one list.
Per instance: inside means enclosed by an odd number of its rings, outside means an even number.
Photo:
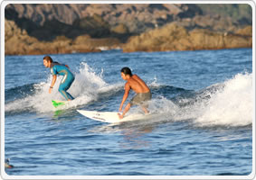
[{"label": "brown craggy upper slope above dark shadow, left of hazy greenish hillside", "polygon": [[[16,14],[13,14],[16,12]],[[8,4],[5,15],[29,19],[39,26],[57,20],[72,25],[98,15],[112,27],[125,24],[131,33],[141,33],[173,21],[174,17],[202,14],[195,4]]]}]

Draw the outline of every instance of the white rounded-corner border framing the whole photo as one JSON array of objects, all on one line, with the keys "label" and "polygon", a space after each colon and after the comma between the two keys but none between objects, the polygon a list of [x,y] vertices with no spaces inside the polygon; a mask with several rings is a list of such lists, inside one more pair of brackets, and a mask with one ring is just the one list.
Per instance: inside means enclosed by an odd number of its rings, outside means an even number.
[{"label": "white rounded-corner border framing the whole photo", "polygon": [[[253,117],[252,117],[252,169],[250,175],[7,175],[5,173],[5,6],[7,4],[250,4],[252,9],[252,88],[253,88]],[[58,0],[4,0],[1,2],[1,178],[3,179],[254,179],[255,178],[255,7],[254,0],[223,0],[223,1],[58,1]]]}]

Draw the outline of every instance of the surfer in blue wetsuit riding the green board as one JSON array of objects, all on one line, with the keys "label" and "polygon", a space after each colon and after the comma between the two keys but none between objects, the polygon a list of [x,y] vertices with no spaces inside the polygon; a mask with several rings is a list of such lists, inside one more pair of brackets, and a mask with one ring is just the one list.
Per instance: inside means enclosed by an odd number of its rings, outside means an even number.
[{"label": "surfer in blue wetsuit riding the green board", "polygon": [[52,88],[56,82],[57,75],[60,75],[63,76],[63,78],[62,83],[59,86],[59,92],[67,101],[73,100],[74,98],[71,94],[67,92],[67,90],[71,87],[71,84],[75,79],[75,76],[71,73],[71,70],[68,67],[68,65],[62,65],[58,62],[53,62],[50,56],[45,56],[43,58],[43,65],[44,67],[51,68],[52,84],[50,86],[49,93],[52,93]]}]

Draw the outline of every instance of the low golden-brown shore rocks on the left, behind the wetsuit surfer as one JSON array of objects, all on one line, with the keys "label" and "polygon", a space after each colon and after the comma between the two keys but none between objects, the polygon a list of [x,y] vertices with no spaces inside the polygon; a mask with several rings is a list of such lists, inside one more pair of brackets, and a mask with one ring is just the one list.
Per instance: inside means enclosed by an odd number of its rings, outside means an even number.
[{"label": "low golden-brown shore rocks on the left, behind the wetsuit surfer", "polygon": [[21,30],[13,21],[5,20],[5,55],[58,54],[72,52],[99,52],[103,47],[118,48],[116,38],[91,39],[78,36],[75,40],[58,36],[53,41],[40,41]]}]

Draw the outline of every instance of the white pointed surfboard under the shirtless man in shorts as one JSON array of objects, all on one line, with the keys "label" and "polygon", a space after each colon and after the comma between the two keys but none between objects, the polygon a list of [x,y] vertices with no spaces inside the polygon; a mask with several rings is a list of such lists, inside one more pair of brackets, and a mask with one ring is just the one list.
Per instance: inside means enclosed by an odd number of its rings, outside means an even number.
[{"label": "white pointed surfboard under the shirtless man in shorts", "polygon": [[119,123],[123,121],[135,121],[141,119],[147,119],[150,117],[150,114],[145,115],[141,113],[130,114],[125,116],[123,119],[119,119],[118,112],[97,112],[97,111],[85,111],[85,110],[77,110],[85,117],[90,118],[95,121],[103,121],[108,123]]}]

